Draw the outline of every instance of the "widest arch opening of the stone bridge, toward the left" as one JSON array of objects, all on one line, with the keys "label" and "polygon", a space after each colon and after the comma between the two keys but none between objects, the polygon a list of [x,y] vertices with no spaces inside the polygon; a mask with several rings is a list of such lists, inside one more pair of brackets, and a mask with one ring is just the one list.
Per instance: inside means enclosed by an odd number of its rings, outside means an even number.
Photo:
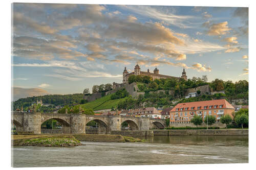
[{"label": "widest arch opening of the stone bridge, toward the left", "polygon": [[[42,119],[41,120],[41,126],[42,124],[44,124],[47,120],[50,120],[50,119],[53,119],[53,120],[56,120],[58,123],[61,124],[61,133],[63,134],[70,134],[71,133],[71,127],[70,127],[70,124],[65,120],[65,119],[62,119],[62,118],[58,118],[58,117],[47,117],[45,119]],[[43,132],[44,130],[41,129],[41,133]],[[58,133],[58,132],[51,132],[51,131],[47,131],[46,133]]]}]

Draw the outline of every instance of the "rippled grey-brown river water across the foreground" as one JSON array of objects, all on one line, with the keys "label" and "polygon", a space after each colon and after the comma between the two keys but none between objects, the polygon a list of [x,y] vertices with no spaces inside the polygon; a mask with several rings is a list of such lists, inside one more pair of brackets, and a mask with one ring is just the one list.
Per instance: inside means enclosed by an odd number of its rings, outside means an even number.
[{"label": "rippled grey-brown river water across the foreground", "polygon": [[147,142],[82,142],[73,148],[14,146],[14,167],[248,163],[245,136],[154,136]]}]

